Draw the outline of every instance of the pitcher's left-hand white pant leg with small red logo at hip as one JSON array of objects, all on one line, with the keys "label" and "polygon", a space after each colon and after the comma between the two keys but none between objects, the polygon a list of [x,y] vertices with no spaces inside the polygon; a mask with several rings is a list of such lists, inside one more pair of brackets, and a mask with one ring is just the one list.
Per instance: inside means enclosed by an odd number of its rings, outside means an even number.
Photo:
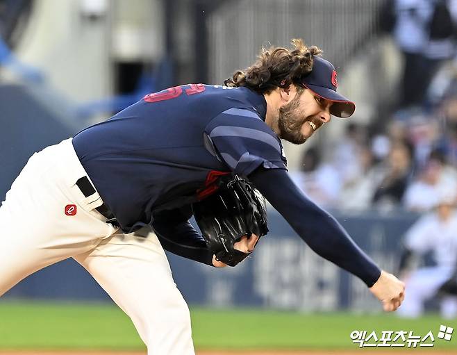
[{"label": "pitcher's left-hand white pant leg with small red logo at hip", "polygon": [[[75,185],[85,172],[71,140],[28,160],[0,206],[0,296],[29,274],[93,249],[115,232]],[[98,195],[95,196],[97,199]],[[74,204],[76,215],[65,215]]]}]

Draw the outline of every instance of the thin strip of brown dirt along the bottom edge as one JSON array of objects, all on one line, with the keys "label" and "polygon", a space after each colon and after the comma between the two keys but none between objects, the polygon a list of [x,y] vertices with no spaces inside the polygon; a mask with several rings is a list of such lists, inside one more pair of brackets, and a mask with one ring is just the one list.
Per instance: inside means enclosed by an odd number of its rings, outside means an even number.
[{"label": "thin strip of brown dirt along the bottom edge", "polygon": [[[372,352],[373,349],[369,349],[368,352]],[[363,352],[367,352],[367,349],[364,349]],[[379,352],[376,351],[376,355],[392,355],[395,352]],[[197,352],[197,355],[335,355],[335,354],[344,354],[344,355],[360,355],[358,349],[349,350],[349,351],[274,351],[274,352],[219,352],[219,351],[201,351]],[[426,350],[420,349],[417,352],[417,349],[404,350],[401,349],[401,355],[450,355],[457,354],[454,350]],[[0,350],[0,355],[146,355],[146,352],[2,352]]]}]

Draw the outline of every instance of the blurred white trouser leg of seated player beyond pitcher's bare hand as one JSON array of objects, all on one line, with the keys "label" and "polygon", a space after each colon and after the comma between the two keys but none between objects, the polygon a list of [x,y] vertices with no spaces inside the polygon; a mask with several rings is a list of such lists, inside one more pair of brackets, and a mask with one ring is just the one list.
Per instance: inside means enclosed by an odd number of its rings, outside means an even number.
[{"label": "blurred white trouser leg of seated player beyond pitcher's bare hand", "polygon": [[424,312],[424,302],[436,295],[442,284],[452,274],[451,267],[423,267],[406,280],[405,299],[397,310],[401,317],[419,317]]}]

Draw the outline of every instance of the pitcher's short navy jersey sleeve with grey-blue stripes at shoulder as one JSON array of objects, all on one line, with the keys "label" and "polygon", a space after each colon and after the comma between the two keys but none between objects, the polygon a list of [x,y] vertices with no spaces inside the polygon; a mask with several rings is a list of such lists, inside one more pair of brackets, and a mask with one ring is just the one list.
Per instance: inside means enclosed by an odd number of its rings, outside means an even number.
[{"label": "pitcher's short navy jersey sleeve with grey-blue stripes at shoulder", "polygon": [[260,166],[287,169],[281,140],[254,111],[229,108],[219,113],[206,126],[204,139],[235,174],[247,176]]}]

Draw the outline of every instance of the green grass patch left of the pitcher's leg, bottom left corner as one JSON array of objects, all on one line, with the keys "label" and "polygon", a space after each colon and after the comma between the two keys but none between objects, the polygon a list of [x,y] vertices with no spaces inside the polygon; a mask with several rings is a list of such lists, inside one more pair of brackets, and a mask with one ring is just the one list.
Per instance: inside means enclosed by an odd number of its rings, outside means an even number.
[{"label": "green grass patch left of the pitcher's leg, bottom left corner", "polygon": [[128,317],[105,304],[0,302],[3,349],[144,349]]}]

